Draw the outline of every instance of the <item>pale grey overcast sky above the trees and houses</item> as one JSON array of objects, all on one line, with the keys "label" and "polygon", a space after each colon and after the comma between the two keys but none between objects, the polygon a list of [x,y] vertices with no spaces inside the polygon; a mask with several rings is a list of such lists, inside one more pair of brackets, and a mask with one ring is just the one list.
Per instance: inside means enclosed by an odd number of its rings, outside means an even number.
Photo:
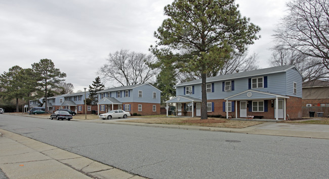
[{"label": "pale grey overcast sky above the trees and houses", "polygon": [[[110,52],[149,53],[153,32],[166,18],[163,7],[173,0],[0,0],[0,73],[18,65],[31,68],[42,58],[67,74],[74,91],[97,77]],[[242,16],[260,26],[261,39],[250,46],[260,68],[273,46],[273,30],[287,0],[236,0]],[[106,87],[112,84],[106,83]]]}]

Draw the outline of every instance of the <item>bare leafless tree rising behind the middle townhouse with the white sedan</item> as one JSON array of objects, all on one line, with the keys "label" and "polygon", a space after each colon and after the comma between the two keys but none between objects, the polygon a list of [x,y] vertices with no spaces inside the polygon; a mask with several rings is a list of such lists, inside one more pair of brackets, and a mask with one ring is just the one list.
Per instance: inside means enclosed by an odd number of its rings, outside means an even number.
[{"label": "bare leafless tree rising behind the middle townhouse with the white sedan", "polygon": [[125,49],[110,53],[106,61],[107,64],[99,69],[98,75],[105,81],[116,81],[122,86],[150,82],[158,71],[147,65],[155,61],[153,55]]}]

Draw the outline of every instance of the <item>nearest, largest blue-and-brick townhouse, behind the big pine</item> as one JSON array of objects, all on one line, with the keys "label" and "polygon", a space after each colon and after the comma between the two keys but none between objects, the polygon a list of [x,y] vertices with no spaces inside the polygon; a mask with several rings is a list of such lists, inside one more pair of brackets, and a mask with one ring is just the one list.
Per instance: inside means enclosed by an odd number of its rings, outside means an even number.
[{"label": "nearest, largest blue-and-brick townhouse, behind the big pine", "polygon": [[[265,119],[302,117],[302,75],[295,66],[280,66],[207,78],[209,115]],[[201,79],[181,83],[176,97],[178,115],[200,116]],[[167,107],[168,108],[168,107]]]}]

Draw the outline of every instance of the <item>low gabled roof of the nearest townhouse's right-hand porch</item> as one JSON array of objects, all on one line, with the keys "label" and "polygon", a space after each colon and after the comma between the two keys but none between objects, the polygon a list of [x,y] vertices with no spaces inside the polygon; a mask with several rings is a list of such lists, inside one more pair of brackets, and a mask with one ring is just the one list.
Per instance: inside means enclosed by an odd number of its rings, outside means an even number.
[{"label": "low gabled roof of the nearest townhouse's right-hand porch", "polygon": [[246,90],[241,93],[224,98],[224,100],[257,100],[257,99],[273,99],[273,98],[289,98],[273,93],[266,93],[262,91]]}]

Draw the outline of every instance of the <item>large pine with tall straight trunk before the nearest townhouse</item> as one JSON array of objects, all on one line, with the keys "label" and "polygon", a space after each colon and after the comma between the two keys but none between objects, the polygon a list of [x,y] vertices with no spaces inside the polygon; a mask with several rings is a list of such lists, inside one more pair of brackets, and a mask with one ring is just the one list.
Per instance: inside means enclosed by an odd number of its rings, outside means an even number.
[{"label": "large pine with tall straight trunk before the nearest townhouse", "polygon": [[260,28],[241,17],[234,0],[175,0],[165,7],[168,19],[154,32],[151,51],[158,65],[201,74],[201,119],[207,118],[207,74],[223,66],[230,52],[243,52]]}]

